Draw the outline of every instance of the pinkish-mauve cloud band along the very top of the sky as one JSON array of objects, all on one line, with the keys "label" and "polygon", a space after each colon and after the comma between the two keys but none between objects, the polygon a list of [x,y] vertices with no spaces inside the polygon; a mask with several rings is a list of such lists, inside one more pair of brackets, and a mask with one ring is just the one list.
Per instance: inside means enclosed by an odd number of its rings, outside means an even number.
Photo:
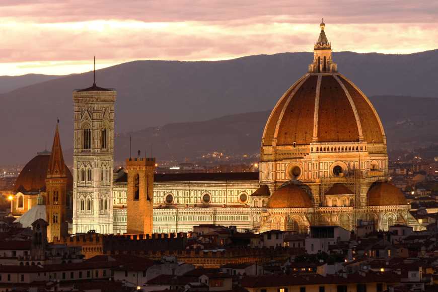
[{"label": "pinkish-mauve cloud band along the very top of the sky", "polygon": [[33,22],[137,20],[145,22],[227,21],[289,16],[288,22],[332,23],[435,22],[438,4],[427,0],[4,0],[1,17]]}]

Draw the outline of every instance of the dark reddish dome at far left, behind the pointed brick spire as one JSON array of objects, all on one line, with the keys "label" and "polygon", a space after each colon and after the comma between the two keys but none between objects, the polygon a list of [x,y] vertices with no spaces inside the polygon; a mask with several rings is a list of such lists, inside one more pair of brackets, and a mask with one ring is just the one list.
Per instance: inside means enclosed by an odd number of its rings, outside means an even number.
[{"label": "dark reddish dome at far left, behind the pointed brick spire", "polygon": [[[15,192],[38,193],[40,190],[44,190],[49,160],[50,152],[45,151],[38,153],[29,161],[15,181]],[[67,166],[65,166],[65,173],[67,175],[67,190],[69,190],[73,186],[73,177]]]}]

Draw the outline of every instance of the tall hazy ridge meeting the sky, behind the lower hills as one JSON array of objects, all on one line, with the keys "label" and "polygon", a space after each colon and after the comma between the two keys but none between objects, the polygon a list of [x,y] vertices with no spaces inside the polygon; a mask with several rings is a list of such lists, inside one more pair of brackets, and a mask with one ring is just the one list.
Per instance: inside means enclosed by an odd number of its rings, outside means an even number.
[{"label": "tall hazy ridge meeting the sky, behind the lower hills", "polygon": [[[121,135],[271,109],[307,71],[311,59],[312,53],[302,52],[214,62],[134,61],[98,70],[96,76],[99,86],[117,90],[116,132]],[[435,97],[438,91],[434,82],[438,79],[438,50],[409,55],[338,52],[334,60],[369,96]],[[6,142],[0,143],[2,163],[26,162],[45,144],[50,145],[56,117],[61,120],[63,148],[71,147],[71,92],[91,83],[92,74],[87,72],[0,95],[0,114],[8,122],[2,133]],[[405,100],[397,100],[398,106],[409,108],[403,104]],[[214,136],[212,130],[210,133]],[[259,130],[257,133],[256,148],[261,135]]]}]

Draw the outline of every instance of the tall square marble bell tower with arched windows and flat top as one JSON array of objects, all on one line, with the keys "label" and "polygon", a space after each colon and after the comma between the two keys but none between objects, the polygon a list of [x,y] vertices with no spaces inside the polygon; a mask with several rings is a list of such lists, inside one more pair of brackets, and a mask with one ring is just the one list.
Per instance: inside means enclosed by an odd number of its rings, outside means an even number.
[{"label": "tall square marble bell tower with arched windows and flat top", "polygon": [[114,102],[116,91],[75,90],[73,232],[113,232]]}]

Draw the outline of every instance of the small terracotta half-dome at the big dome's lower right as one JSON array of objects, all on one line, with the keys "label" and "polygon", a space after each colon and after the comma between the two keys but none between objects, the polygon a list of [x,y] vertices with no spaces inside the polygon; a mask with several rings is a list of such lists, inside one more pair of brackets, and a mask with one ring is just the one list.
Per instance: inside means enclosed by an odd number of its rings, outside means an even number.
[{"label": "small terracotta half-dome at the big dome's lower right", "polygon": [[368,205],[395,206],[406,205],[406,198],[395,185],[388,182],[375,182],[368,191]]}]

